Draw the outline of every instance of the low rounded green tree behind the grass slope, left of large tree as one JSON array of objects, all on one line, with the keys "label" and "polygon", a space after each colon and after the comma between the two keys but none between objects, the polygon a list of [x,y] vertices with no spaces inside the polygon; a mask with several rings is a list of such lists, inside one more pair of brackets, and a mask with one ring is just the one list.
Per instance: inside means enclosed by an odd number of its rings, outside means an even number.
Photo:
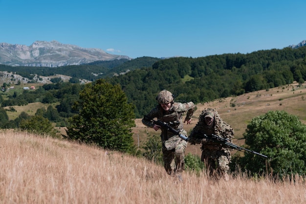
[{"label": "low rounded green tree behind the grass slope, left of large tree", "polygon": [[22,119],[19,123],[19,128],[34,134],[43,136],[56,136],[56,130],[52,123],[42,115],[31,116],[29,119]]}]

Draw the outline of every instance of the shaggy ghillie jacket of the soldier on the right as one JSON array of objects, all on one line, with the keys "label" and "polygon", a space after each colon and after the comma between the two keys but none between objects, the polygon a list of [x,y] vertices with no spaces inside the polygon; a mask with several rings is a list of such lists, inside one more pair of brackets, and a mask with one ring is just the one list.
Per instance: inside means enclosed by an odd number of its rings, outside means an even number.
[{"label": "shaggy ghillie jacket of the soldier on the right", "polygon": [[[206,111],[211,111],[214,113],[214,125],[212,128],[209,128],[204,120],[204,114]],[[206,134],[211,135],[214,134],[216,136],[229,139],[229,142],[232,142],[232,138],[234,138],[234,130],[233,128],[228,125],[223,119],[220,118],[217,110],[214,109],[205,109],[199,116],[199,120],[197,125],[192,130],[189,141],[191,144],[200,144],[202,143],[203,146],[215,146],[216,143],[206,140],[203,141],[202,138],[198,136],[198,134]]]}]

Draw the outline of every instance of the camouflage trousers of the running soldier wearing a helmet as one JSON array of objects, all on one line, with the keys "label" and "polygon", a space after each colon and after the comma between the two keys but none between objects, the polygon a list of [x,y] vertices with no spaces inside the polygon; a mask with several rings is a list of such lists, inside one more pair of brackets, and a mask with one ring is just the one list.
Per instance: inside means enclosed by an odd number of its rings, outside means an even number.
[{"label": "camouflage trousers of the running soldier wearing a helmet", "polygon": [[169,150],[164,143],[162,146],[164,167],[167,174],[175,176],[175,174],[181,174],[184,170],[184,154],[187,142],[179,139],[175,144],[174,149]]}]

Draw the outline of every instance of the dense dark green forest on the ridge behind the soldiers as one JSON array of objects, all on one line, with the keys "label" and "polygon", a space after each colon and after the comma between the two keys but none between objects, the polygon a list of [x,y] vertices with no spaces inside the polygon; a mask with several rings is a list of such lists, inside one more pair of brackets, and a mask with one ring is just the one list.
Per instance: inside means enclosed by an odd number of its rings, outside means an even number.
[{"label": "dense dark green forest on the ridge behind the soldiers", "polygon": [[130,102],[136,105],[136,117],[142,117],[156,104],[155,97],[163,89],[172,91],[176,101],[203,103],[293,81],[303,83],[306,46],[250,54],[170,58],[108,80],[121,85]]}]

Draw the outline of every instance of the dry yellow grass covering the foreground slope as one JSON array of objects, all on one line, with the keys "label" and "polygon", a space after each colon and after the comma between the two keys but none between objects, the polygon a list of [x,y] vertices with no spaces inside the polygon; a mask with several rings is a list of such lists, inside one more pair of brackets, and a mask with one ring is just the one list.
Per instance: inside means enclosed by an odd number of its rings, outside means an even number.
[{"label": "dry yellow grass covering the foreground slope", "polygon": [[0,132],[0,204],[302,204],[296,182],[231,177],[212,181],[97,147],[22,132]]}]

